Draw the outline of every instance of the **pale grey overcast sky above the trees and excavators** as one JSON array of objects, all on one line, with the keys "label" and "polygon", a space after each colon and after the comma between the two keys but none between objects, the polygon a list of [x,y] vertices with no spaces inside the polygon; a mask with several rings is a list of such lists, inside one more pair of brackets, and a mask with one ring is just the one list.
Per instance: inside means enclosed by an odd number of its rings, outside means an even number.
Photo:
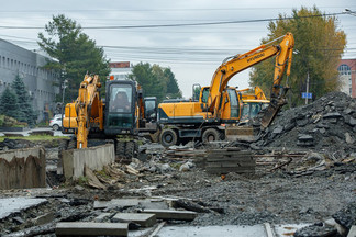
[{"label": "pale grey overcast sky above the trees and excavators", "polygon": [[[356,11],[355,0],[0,0],[0,38],[27,49],[37,49],[41,29],[53,15],[65,14],[84,27],[84,33],[104,48],[111,61],[148,61],[170,67],[186,98],[193,83],[209,86],[222,60],[257,47],[267,36],[268,21],[187,25],[194,23],[238,22],[291,15],[293,8],[316,5],[325,13]],[[337,15],[340,29],[347,34],[343,58],[356,58],[356,14]],[[156,27],[142,27],[156,25]],[[176,26],[167,26],[176,25]],[[90,29],[108,26],[135,26]],[[136,27],[141,26],[141,27]],[[248,70],[230,82],[248,87]]]}]

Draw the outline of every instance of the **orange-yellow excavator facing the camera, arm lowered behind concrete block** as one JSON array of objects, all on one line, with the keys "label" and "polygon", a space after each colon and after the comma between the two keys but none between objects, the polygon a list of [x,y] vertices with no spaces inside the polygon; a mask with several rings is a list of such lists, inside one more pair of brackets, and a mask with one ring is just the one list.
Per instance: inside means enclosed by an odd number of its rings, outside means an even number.
[{"label": "orange-yellow excavator facing the camera, arm lowered behind concrete block", "polygon": [[[108,80],[105,98],[101,98],[98,75],[86,75],[79,87],[78,98],[65,106],[63,133],[74,134],[68,148],[87,148],[90,140],[114,143],[119,156],[133,156],[133,139],[122,142],[118,135],[132,136],[140,132],[157,131],[157,100],[143,98],[135,81]],[[73,144],[75,143],[75,144]]]}]

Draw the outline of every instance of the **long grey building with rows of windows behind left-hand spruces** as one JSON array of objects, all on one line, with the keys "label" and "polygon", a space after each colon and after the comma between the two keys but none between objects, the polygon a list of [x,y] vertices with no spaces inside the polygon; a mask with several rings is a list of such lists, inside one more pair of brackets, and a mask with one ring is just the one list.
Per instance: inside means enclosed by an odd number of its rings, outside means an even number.
[{"label": "long grey building with rows of windows behind left-hand spruces", "polygon": [[51,58],[0,40],[0,93],[19,75],[31,95],[37,122],[47,120],[59,93],[59,74],[43,68]]}]

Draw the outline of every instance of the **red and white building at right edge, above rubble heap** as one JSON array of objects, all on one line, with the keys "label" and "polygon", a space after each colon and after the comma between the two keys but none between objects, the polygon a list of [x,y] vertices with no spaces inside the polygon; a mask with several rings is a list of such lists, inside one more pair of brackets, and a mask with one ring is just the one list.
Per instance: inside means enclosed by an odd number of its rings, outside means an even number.
[{"label": "red and white building at right edge, above rubble heap", "polygon": [[342,91],[356,98],[356,59],[341,59],[337,66]]}]

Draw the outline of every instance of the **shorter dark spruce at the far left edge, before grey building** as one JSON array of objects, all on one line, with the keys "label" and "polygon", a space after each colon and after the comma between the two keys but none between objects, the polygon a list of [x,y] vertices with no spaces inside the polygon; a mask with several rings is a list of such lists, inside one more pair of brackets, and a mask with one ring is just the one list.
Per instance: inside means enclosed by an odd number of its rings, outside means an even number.
[{"label": "shorter dark spruce at the far left edge, before grey building", "polygon": [[19,119],[19,103],[16,94],[7,87],[0,97],[0,114]]}]

